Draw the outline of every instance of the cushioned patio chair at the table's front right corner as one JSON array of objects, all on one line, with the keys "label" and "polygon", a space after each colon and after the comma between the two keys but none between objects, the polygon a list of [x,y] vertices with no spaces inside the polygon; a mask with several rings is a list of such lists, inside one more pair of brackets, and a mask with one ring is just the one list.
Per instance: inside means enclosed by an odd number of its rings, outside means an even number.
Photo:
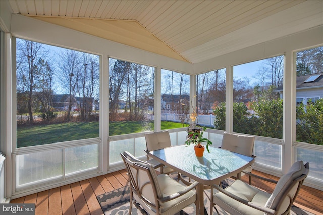
[{"label": "cushioned patio chair at the table's front right corner", "polygon": [[277,183],[272,194],[241,180],[236,180],[225,189],[214,186],[218,192],[211,196],[211,208],[216,204],[230,214],[290,214],[291,206],[308,172],[309,164],[297,161],[278,182],[253,175]]}]

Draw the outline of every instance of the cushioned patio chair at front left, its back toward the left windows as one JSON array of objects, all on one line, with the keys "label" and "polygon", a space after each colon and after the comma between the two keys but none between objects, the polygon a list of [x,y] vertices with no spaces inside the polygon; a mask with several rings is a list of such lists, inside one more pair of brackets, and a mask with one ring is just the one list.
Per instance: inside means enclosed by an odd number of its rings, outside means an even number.
[{"label": "cushioned patio chair at front left, its back toward the left windows", "polygon": [[130,181],[130,209],[134,198],[148,214],[173,215],[195,203],[193,189],[198,182],[186,187],[163,173],[157,176],[151,164],[136,159],[124,151],[121,157],[125,163]]}]

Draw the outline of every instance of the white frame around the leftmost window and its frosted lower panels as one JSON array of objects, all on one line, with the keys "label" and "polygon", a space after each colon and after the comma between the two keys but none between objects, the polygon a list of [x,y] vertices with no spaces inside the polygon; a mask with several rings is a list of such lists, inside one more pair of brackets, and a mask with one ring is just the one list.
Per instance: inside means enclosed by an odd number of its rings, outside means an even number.
[{"label": "white frame around the leftmost window and its frosted lower panels", "polygon": [[[21,38],[21,37],[17,37],[19,39],[25,39],[25,38]],[[42,41],[37,41],[35,39],[28,39],[26,38],[26,40],[30,40],[30,41],[34,41],[34,42],[39,42],[45,45],[51,45]],[[12,37],[11,38],[11,57],[14,59],[12,61],[12,77],[11,77],[11,88],[12,88],[12,92],[14,92],[12,94],[12,107],[17,107],[16,105],[16,37]],[[64,47],[62,47],[64,48]],[[71,49],[71,48],[70,48]],[[88,51],[85,50],[77,50],[80,52],[85,52],[85,53],[90,53]],[[96,54],[96,53],[92,53],[92,54]],[[100,99],[102,98],[102,56],[100,56],[99,54],[96,54],[99,56],[99,64],[100,64],[100,70],[99,70],[99,77],[100,77]],[[101,109],[101,108],[100,108]],[[100,123],[100,131],[99,131],[99,137],[96,138],[90,138],[90,139],[80,139],[80,140],[72,140],[72,141],[65,141],[65,142],[55,142],[54,144],[43,144],[43,145],[37,145],[37,146],[29,146],[29,147],[22,147],[22,148],[17,148],[17,130],[16,130],[16,111],[14,110],[11,114],[12,117],[12,121],[13,121],[13,126],[12,126],[12,131],[13,131],[13,135],[12,135],[12,165],[11,165],[11,169],[12,169],[12,191],[11,191],[11,195],[15,196],[15,197],[21,197],[21,196],[26,196],[28,194],[31,194],[32,191],[30,191],[29,186],[28,185],[32,185],[34,187],[34,190],[37,189],[50,189],[51,187],[55,187],[52,184],[66,184],[66,183],[74,183],[80,180],[83,180],[85,178],[89,178],[89,177],[95,177],[95,176],[99,176],[102,175],[102,173],[106,173],[105,171],[103,171],[103,169],[105,169],[105,167],[103,167],[103,156],[102,156],[102,132],[101,132],[101,121]],[[53,149],[62,149],[63,153],[64,150],[66,148],[73,148],[73,147],[78,147],[78,146],[86,146],[86,145],[93,145],[93,144],[98,144],[98,167],[95,168],[90,168],[90,169],[85,169],[85,170],[80,170],[80,171],[76,171],[73,172],[71,174],[65,174],[65,171],[63,170],[64,174],[62,177],[57,177],[57,178],[48,178],[47,180],[40,180],[37,182],[32,182],[30,184],[23,184],[23,185],[18,185],[17,184],[17,177],[18,177],[18,163],[16,162],[17,156],[19,155],[24,155],[24,154],[29,154],[29,153],[41,153],[41,152],[46,152],[46,151],[50,151]],[[64,156],[63,156],[64,157]],[[65,165],[65,161],[63,160],[63,166]],[[63,167],[64,169],[64,167]]]}]

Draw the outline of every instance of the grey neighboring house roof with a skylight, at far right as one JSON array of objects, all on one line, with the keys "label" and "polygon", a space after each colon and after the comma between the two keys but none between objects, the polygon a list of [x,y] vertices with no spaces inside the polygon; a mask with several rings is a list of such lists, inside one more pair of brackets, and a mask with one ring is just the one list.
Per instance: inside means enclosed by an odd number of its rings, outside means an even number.
[{"label": "grey neighboring house roof with a skylight, at far right", "polygon": [[[296,77],[296,89],[320,87],[323,87],[323,73],[312,73]],[[283,86],[279,86],[275,91],[283,91]]]}]

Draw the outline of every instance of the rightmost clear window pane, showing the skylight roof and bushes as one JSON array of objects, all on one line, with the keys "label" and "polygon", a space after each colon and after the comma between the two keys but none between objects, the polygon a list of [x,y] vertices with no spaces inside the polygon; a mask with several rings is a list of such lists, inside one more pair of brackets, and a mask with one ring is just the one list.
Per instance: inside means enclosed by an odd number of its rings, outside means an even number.
[{"label": "rightmost clear window pane, showing the skylight roof and bushes", "polygon": [[296,109],[296,141],[323,145],[323,46],[296,56],[296,97],[305,98]]}]

